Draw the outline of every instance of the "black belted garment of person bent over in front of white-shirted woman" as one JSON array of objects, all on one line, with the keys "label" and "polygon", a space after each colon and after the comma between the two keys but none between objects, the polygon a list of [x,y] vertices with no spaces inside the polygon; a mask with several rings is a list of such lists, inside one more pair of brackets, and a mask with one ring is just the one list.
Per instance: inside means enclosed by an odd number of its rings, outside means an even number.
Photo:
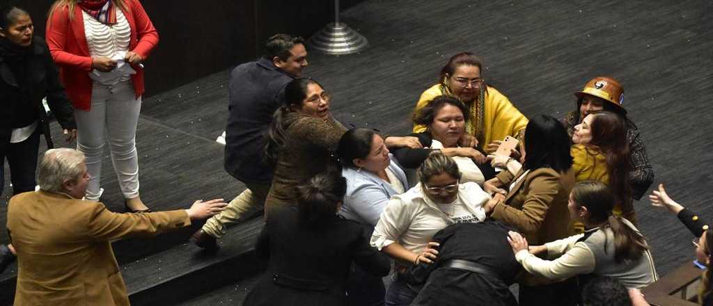
[{"label": "black belted garment of person bent over in front of white-shirted woman", "polygon": [[[414,266],[406,273],[411,285],[423,285],[411,305],[518,305],[508,289],[522,268],[507,241],[511,228],[498,221],[456,223],[433,238],[441,244],[431,265]],[[441,267],[448,260],[469,260],[491,270],[493,275]]]}]

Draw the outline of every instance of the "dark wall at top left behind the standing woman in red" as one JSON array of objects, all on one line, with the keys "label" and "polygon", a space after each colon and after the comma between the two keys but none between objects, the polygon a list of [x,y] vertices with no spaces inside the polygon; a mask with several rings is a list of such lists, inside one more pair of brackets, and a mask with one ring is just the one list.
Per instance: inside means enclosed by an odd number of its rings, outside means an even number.
[{"label": "dark wall at top left behind the standing woman in red", "polygon": [[[341,1],[342,9],[363,0]],[[28,10],[44,36],[50,0],[0,0]],[[146,95],[257,58],[275,33],[308,38],[334,19],[332,1],[142,0],[160,43],[145,63]]]}]

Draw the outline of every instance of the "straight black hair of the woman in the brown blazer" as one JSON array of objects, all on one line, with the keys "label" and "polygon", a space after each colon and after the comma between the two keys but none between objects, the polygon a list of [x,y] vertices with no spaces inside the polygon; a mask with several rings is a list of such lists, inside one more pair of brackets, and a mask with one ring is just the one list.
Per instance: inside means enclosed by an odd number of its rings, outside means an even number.
[{"label": "straight black hair of the woman in the brown blazer", "polygon": [[567,130],[558,120],[548,115],[535,116],[525,127],[523,169],[549,167],[556,172],[567,172],[574,163],[570,146]]}]

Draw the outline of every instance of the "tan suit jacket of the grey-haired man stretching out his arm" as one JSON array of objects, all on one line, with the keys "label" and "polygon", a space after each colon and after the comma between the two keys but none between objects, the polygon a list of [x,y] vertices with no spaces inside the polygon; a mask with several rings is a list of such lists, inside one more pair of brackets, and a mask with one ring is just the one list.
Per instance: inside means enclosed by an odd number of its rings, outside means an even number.
[{"label": "tan suit jacket of the grey-haired man stretching out his arm", "polygon": [[95,201],[46,191],[10,199],[17,250],[15,305],[129,305],[110,241],[190,225],[183,210],[113,213]]}]

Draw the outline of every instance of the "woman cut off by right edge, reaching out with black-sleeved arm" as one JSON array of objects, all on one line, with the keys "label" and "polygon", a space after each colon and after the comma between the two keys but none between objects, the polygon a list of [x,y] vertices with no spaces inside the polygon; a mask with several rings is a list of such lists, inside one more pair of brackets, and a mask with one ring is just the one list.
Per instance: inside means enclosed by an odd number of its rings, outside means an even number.
[{"label": "woman cut off by right edge, reaching out with black-sleeved arm", "polygon": [[698,302],[704,306],[713,306],[713,287],[711,280],[713,279],[713,268],[711,268],[711,260],[713,260],[713,231],[709,231],[709,226],[699,218],[699,216],[678,204],[666,192],[664,184],[659,184],[658,189],[654,189],[649,195],[652,206],[663,207],[670,213],[675,214],[679,221],[697,237],[693,239],[692,245],[695,248],[696,260],[700,265],[705,266],[703,277],[701,278],[701,287],[698,290]]}]

